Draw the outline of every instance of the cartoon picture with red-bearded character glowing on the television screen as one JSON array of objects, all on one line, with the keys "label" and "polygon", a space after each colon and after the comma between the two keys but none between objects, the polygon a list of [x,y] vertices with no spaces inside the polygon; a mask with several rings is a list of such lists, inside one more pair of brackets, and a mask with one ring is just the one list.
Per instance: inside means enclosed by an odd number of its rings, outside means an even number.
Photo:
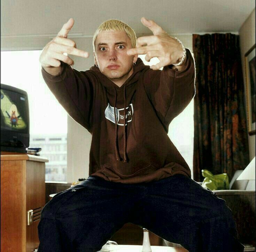
[{"label": "cartoon picture with red-bearded character glowing on the television screen", "polygon": [[[20,100],[22,99],[20,97]],[[1,90],[1,120],[3,119],[5,126],[11,130],[19,131],[27,127],[21,112],[22,108],[19,110],[19,106],[21,107],[21,104],[14,104],[10,96]]]}]

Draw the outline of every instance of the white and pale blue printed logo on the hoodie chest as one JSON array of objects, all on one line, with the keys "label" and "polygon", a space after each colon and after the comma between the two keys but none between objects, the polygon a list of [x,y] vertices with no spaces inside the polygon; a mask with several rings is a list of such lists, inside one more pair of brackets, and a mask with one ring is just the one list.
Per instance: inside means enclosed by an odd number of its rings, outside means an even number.
[{"label": "white and pale blue printed logo on the hoodie chest", "polygon": [[[117,125],[124,125],[124,109],[117,109],[116,108],[116,120],[117,120]],[[132,103],[126,107],[126,124],[129,123],[132,120],[132,115],[133,115],[133,106]],[[105,109],[105,117],[110,120],[112,123],[115,123],[115,112],[114,112],[114,107],[110,106],[108,103],[107,108]]]}]

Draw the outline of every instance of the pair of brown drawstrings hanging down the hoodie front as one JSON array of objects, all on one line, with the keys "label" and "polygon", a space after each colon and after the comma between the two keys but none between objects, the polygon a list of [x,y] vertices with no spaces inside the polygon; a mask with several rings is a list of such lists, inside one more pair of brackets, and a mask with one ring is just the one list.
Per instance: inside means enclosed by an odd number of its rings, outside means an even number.
[{"label": "pair of brown drawstrings hanging down the hoodie front", "polygon": [[[126,156],[126,131],[125,131],[125,125],[126,125],[126,93],[125,93],[124,86],[124,131],[123,131],[123,138],[124,138],[124,163],[127,162],[127,156]],[[117,134],[117,119],[116,119],[116,101],[117,101],[117,91],[115,89],[115,107],[114,107],[114,114],[115,114],[115,152],[116,152],[116,160],[120,161],[120,155],[119,151],[117,149],[117,141],[118,141],[118,134]]]}]

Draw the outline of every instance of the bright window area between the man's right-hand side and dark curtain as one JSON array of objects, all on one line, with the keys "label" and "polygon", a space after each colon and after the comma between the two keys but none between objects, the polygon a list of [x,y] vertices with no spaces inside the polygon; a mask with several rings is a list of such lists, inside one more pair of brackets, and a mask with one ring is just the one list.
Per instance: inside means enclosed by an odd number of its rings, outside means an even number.
[{"label": "bright window area between the man's right-hand side and dark curtain", "polygon": [[[159,62],[157,58],[152,58],[150,62],[148,62],[145,60],[145,56],[146,55],[139,55],[145,65],[152,66]],[[180,115],[172,120],[169,126],[168,136],[187,162],[191,169],[193,179],[194,99],[192,99]]]}]

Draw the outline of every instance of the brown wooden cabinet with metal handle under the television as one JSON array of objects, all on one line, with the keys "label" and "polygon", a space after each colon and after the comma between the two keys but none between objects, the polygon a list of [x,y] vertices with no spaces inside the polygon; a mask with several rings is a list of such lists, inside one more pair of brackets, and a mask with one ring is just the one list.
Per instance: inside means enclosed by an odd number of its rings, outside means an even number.
[{"label": "brown wooden cabinet with metal handle under the television", "polygon": [[32,252],[45,205],[46,158],[1,153],[1,251]]}]

